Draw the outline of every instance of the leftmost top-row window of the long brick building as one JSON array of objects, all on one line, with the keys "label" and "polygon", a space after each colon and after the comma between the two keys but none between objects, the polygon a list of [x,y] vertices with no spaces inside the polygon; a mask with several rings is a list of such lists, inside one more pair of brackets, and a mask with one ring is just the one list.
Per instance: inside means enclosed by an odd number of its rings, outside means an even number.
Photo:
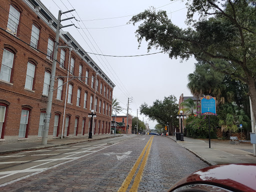
[{"label": "leftmost top-row window of the long brick building", "polygon": [[17,9],[15,9],[12,5],[10,5],[7,31],[15,36],[17,35],[19,15],[20,15],[20,12]]}]

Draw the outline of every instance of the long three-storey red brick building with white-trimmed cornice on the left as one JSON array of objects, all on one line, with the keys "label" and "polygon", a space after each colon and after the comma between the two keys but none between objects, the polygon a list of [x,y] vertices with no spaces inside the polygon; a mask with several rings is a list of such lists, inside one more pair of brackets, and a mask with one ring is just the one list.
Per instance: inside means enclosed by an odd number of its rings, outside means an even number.
[{"label": "long three-storey red brick building with white-trimmed cornice on the left", "polygon": [[[40,1],[1,0],[0,144],[42,137],[56,23]],[[87,137],[91,109],[96,112],[92,134],[110,133],[115,85],[62,29],[59,46],[68,47],[57,52],[48,138],[59,138],[62,131],[64,137]],[[68,69],[68,80],[77,77],[65,83]]]}]

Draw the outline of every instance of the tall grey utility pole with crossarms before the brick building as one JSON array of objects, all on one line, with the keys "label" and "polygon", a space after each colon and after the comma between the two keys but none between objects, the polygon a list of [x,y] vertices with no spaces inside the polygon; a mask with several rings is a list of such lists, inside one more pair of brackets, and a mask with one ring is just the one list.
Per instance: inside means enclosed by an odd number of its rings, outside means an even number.
[{"label": "tall grey utility pole with crossarms before the brick building", "polygon": [[[54,88],[54,79],[55,79],[55,71],[56,71],[56,62],[57,62],[57,49],[58,49],[58,38],[59,38],[59,29],[66,27],[66,26],[71,26],[73,24],[65,25],[60,27],[60,17],[61,14],[71,12],[72,10],[68,10],[65,12],[61,13],[61,10],[58,11],[58,20],[57,20],[57,28],[56,28],[56,36],[55,36],[55,43],[54,43],[54,51],[52,55],[52,65],[51,65],[51,74],[50,74],[50,84],[49,84],[49,90],[48,90],[48,100],[47,100],[47,107],[46,107],[46,113],[44,117],[44,126],[43,126],[43,132],[42,132],[42,144],[47,144],[47,139],[48,139],[48,130],[49,130],[49,122],[50,122],[50,116],[51,116],[51,104],[52,104],[52,96],[53,96],[53,88]],[[63,20],[71,19],[70,18],[65,18]]]}]

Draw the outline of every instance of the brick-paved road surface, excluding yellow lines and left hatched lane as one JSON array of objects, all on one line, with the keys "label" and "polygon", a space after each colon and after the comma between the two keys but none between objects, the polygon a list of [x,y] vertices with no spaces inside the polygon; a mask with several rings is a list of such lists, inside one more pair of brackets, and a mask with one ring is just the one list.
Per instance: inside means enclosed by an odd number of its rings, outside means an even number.
[{"label": "brick-paved road surface, excluding yellow lines and left hatched lane", "polygon": [[[149,143],[149,138],[151,135],[139,135],[112,145],[100,146],[93,146],[91,142],[93,147],[86,150],[86,154],[81,151],[76,154],[78,158],[34,172],[34,175],[13,183],[0,185],[0,191],[118,191],[134,168],[143,148]],[[145,157],[147,161],[137,191],[166,191],[184,175],[207,166],[165,136],[153,136],[148,151],[148,156],[142,154],[126,191],[130,190]]]}]

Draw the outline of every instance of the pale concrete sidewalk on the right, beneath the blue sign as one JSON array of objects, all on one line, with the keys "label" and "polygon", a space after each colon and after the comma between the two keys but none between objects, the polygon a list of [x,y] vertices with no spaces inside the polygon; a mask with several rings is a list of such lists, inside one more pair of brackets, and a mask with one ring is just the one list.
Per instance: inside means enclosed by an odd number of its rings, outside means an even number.
[{"label": "pale concrete sidewalk on the right, beneath the blue sign", "polygon": [[225,163],[256,163],[256,156],[253,156],[252,144],[240,143],[231,144],[229,140],[194,139],[184,136],[184,141],[176,140],[176,137],[169,135],[178,144],[194,153],[209,165]]}]

